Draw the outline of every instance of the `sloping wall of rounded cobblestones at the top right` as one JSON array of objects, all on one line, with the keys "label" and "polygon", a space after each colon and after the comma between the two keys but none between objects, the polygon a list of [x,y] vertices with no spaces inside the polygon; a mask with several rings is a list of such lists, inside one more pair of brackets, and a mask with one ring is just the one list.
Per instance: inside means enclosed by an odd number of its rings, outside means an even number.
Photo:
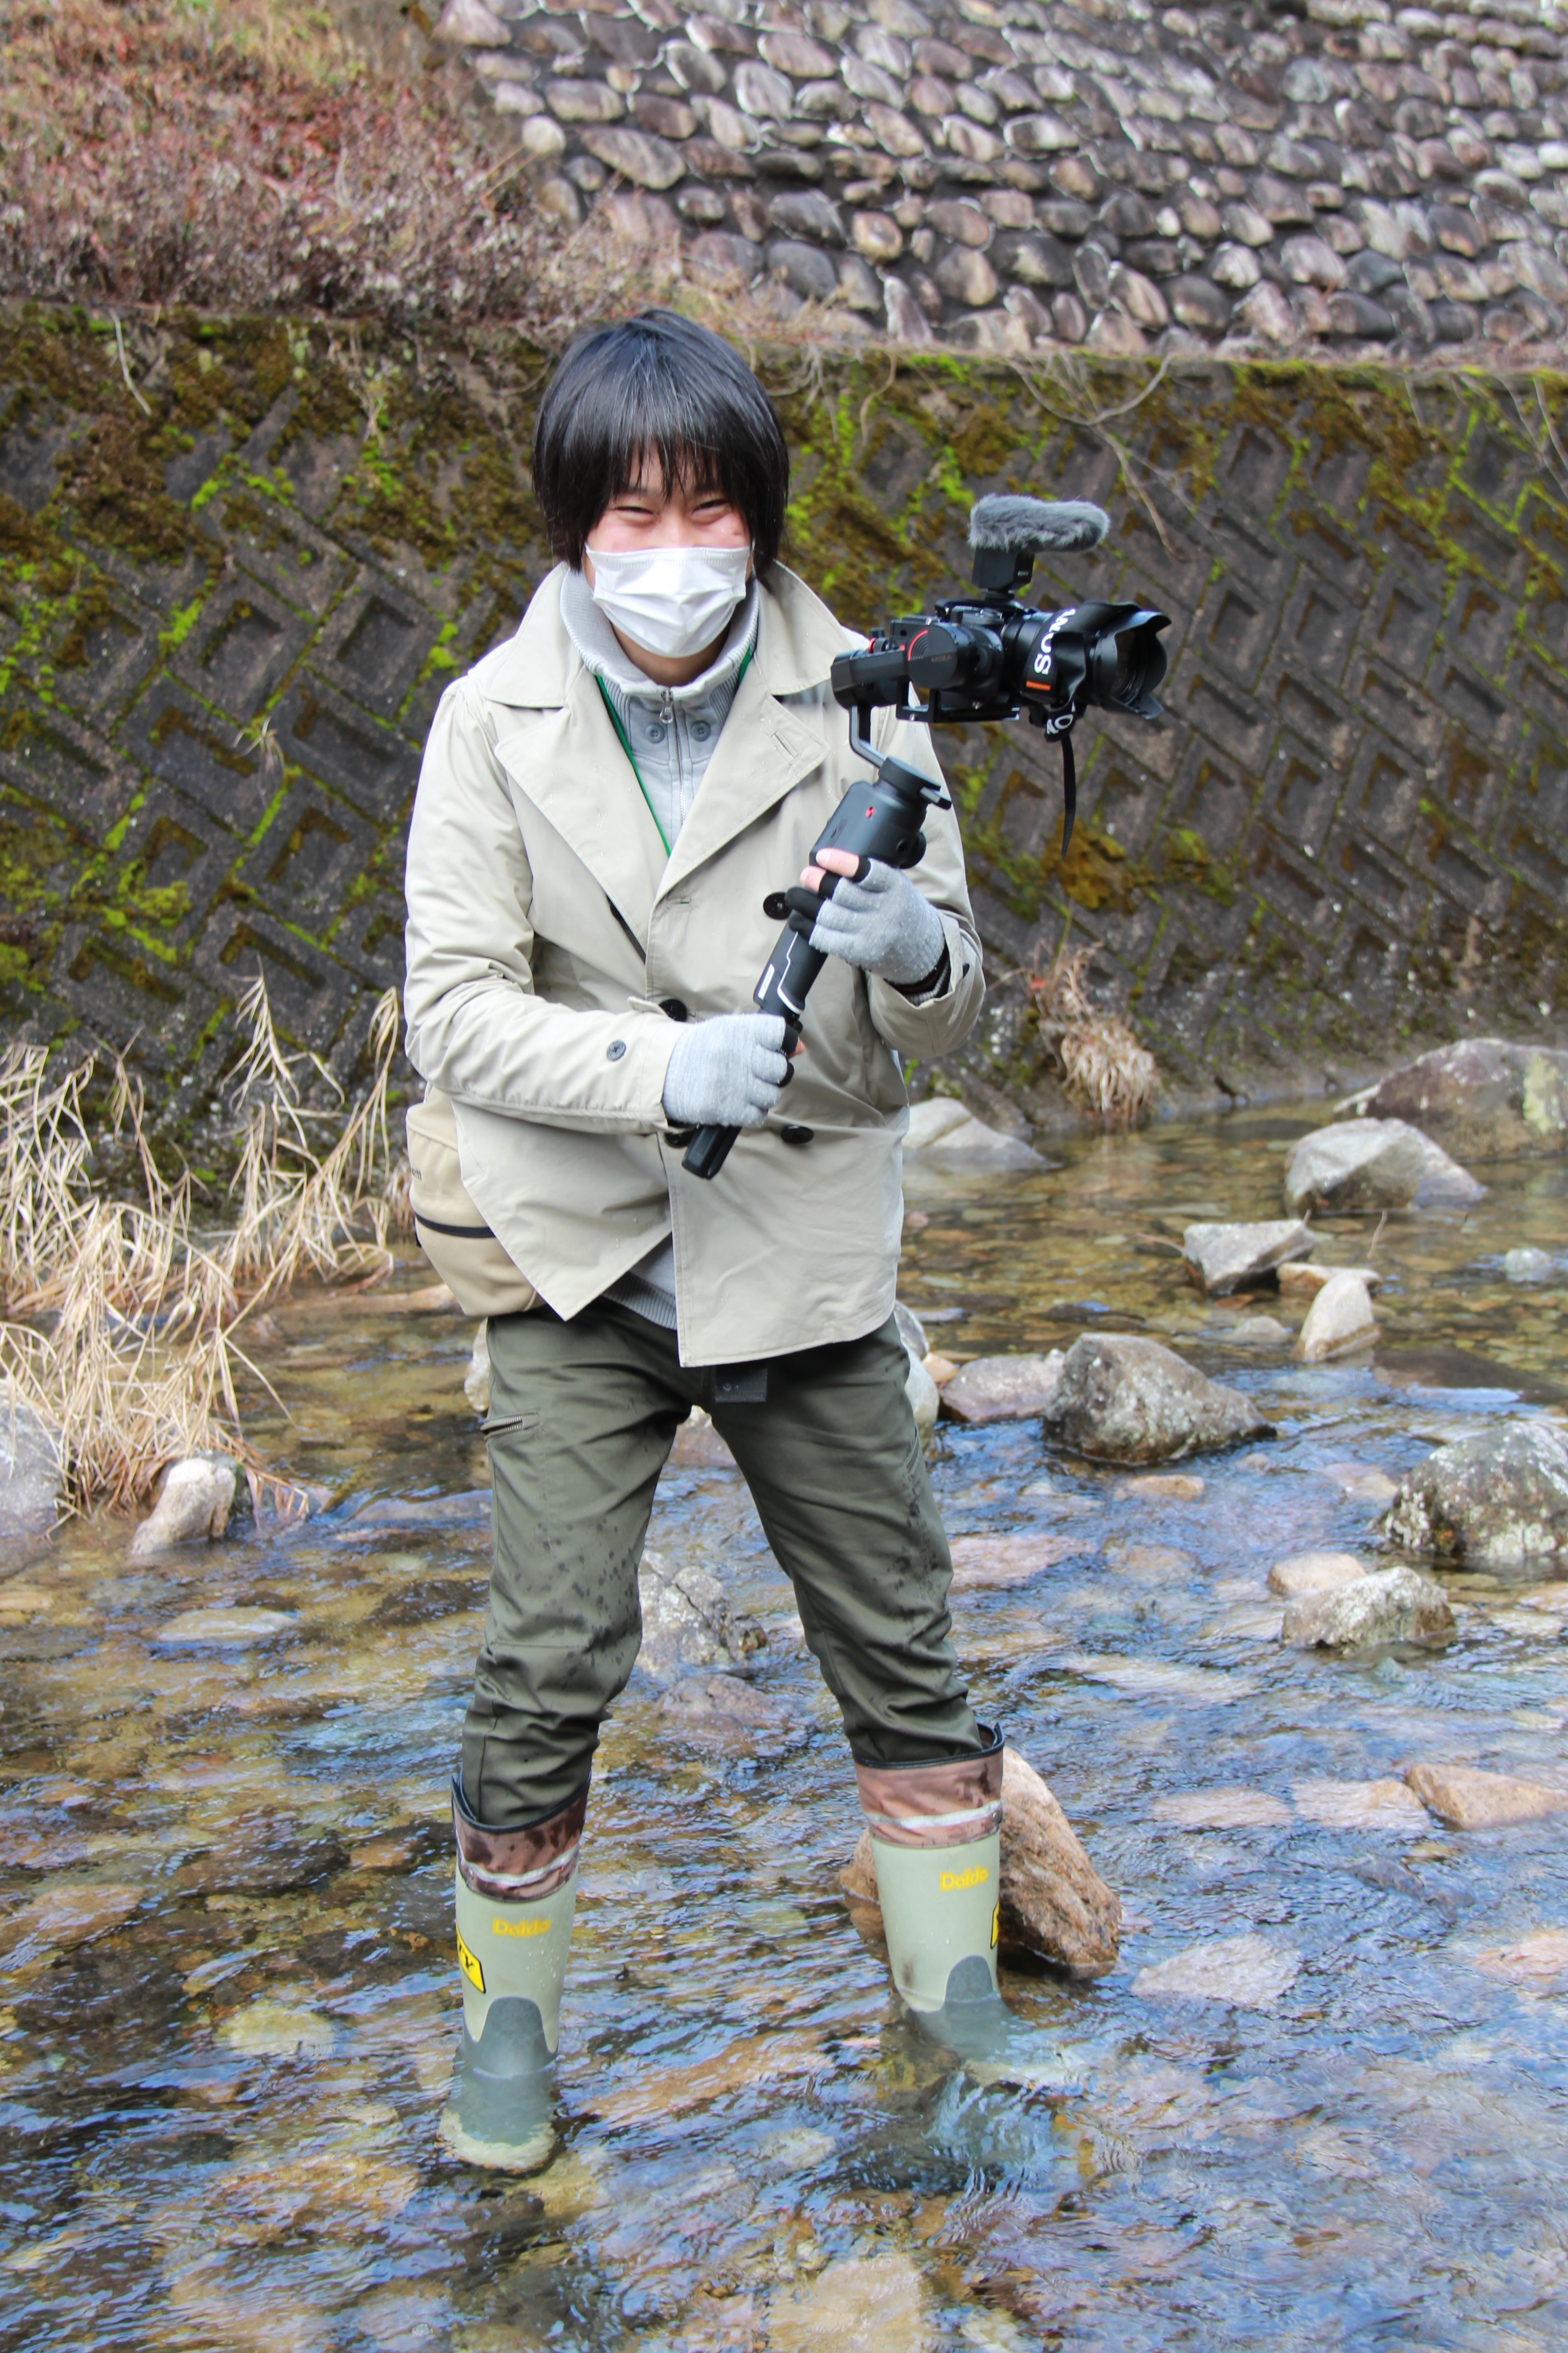
[{"label": "sloping wall of rounded cobblestones at the top right", "polygon": [[447,0],[430,33],[550,216],[597,207],[764,315],[1561,355],[1554,0]]}]

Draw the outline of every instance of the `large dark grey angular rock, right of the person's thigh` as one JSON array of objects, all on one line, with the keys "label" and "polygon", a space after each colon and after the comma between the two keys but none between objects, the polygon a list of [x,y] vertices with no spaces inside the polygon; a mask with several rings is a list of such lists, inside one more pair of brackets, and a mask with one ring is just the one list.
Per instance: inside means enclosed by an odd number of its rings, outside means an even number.
[{"label": "large dark grey angular rock, right of the person's thigh", "polygon": [[1251,1398],[1222,1388],[1157,1339],[1100,1332],[1072,1344],[1046,1438],[1112,1464],[1159,1464],[1244,1438],[1272,1438]]}]

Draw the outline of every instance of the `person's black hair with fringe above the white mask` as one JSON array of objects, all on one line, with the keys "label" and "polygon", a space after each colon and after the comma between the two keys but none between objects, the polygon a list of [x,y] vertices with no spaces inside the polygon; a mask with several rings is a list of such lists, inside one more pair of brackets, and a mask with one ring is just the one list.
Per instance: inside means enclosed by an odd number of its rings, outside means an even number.
[{"label": "person's black hair with fringe above the white mask", "polygon": [[783,539],[790,452],[773,402],[731,346],[677,311],[639,311],[578,336],[534,424],[534,496],[574,569],[642,456],[672,482],[719,489],[745,518],[757,574]]}]

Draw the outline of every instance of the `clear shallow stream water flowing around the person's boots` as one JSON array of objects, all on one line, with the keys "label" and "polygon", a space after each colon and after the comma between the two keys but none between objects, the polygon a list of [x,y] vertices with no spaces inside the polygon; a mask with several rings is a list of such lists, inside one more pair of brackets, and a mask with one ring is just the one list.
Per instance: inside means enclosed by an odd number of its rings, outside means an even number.
[{"label": "clear shallow stream water flowing around the person's boots", "polygon": [[[769,1626],[766,1753],[682,1746],[635,1678],[602,1748],[555,2165],[437,2137],[458,2002],[444,1784],[487,1572],[480,1504],[132,1572],[122,1527],[0,1562],[0,2344],[42,2348],[1556,2348],[1568,2341],[1563,1819],[1366,1817],[1415,1758],[1563,1779],[1568,1584],[1453,1577],[1458,1640],[1345,1664],[1276,1640],[1274,1560],[1375,1546],[1380,1478],[1552,1412],[1563,1162],[1378,1242],[1382,1344],[1302,1369],[1159,1235],[1279,1214],[1288,1134],[1237,1115],[1084,1141],[1027,1176],[912,1172],[903,1292],[959,1353],[1140,1327],[1265,1400],[1279,1440],[1197,1501],[943,1428],[954,1534],[1060,1527],[1032,1584],[954,1602],[980,1713],[1126,1904],[1098,1986],[1006,1974],[1053,2087],[910,2038],[839,1894],[858,1814],[835,1713],[733,1473],[665,1475],[651,1541]],[[1328,1228],[1366,1257],[1371,1221]],[[409,1268],[409,1280],[423,1280]],[[780,1271],[788,1280],[788,1271]],[[280,1318],[263,1431],[341,1506],[482,1485],[468,1327]],[[181,1649],[193,1607],[292,1624]],[[1333,1784],[1328,1793],[1326,1784]],[[1182,1828],[1171,1800],[1246,1788]],[[1338,1791],[1338,1793],[1335,1793]],[[1276,1800],[1258,1807],[1258,1793]],[[1338,1821],[1338,1826],[1335,1826]],[[61,1906],[66,1906],[61,1911]],[[1265,1939],[1265,2007],[1138,1977]],[[1563,1946],[1568,1951],[1568,1946]],[[1502,1955],[1502,1958],[1497,1958]],[[1540,1955],[1540,1948],[1537,1948]],[[1521,1974],[1521,1969],[1526,1974]],[[1291,1974],[1295,1972],[1295,1974]],[[985,2073],[985,2071],[980,2071]]]}]

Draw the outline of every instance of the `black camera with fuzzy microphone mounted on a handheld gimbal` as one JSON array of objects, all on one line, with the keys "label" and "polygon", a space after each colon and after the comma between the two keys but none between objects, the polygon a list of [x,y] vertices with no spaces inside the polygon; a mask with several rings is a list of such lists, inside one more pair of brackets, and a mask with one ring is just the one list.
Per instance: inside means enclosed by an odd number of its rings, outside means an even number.
[{"label": "black camera with fuzzy microphone mounted on a handheld gimbal", "polygon": [[[1140,605],[1039,612],[1020,605],[1016,591],[1027,584],[1037,555],[1093,548],[1107,529],[1103,508],[1077,499],[978,499],[969,518],[969,544],[976,551],[976,588],[987,593],[947,598],[931,614],[891,621],[863,652],[835,659],[832,692],[849,711],[849,748],[875,769],[875,781],[844,793],[811,849],[813,861],[823,849],[849,849],[858,859],[853,880],[865,875],[872,859],[917,866],[926,854],[919,831],[926,807],[952,807],[931,776],[872,748],[877,708],[891,708],[900,720],[919,720],[924,727],[1016,720],[1027,711],[1030,725],[1044,727],[1063,746],[1063,852],[1067,849],[1077,805],[1072,722],[1091,704],[1159,718],[1154,687],[1166,675],[1159,631],[1171,619]],[[924,694],[924,701],[910,701],[910,689]],[[762,1014],[783,1016],[788,1054],[799,1045],[806,991],[827,962],[811,946],[811,929],[837,880],[825,875],[820,892],[797,885],[762,901],[766,915],[788,922],[752,1002]],[[736,1127],[698,1127],[682,1167],[693,1176],[717,1176],[736,1134]]]}]

